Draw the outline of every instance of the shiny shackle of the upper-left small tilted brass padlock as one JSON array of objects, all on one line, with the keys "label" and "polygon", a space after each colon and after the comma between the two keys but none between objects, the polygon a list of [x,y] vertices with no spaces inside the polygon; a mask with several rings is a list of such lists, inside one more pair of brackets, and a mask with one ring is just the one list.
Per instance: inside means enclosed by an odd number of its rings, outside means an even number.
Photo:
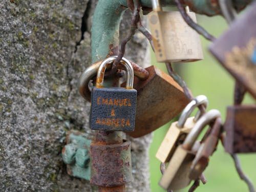
[{"label": "shiny shackle of the upper-left small tilted brass padlock", "polygon": [[[195,108],[199,105],[203,104],[205,106],[205,108],[207,108],[208,106],[208,99],[206,96],[204,95],[199,95],[197,97],[195,97],[193,100],[191,100],[185,107],[185,109],[182,111],[180,118],[178,120],[177,126],[178,127],[183,127],[187,118],[190,116],[190,114],[195,110]],[[200,117],[201,112],[198,111],[194,121],[197,121],[198,118]]]}]

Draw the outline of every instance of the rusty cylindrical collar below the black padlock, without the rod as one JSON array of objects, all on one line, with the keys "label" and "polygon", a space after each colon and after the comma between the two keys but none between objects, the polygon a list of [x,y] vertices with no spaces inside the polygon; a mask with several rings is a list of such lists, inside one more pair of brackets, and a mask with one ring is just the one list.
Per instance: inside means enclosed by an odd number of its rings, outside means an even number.
[{"label": "rusty cylindrical collar below the black padlock, without the rod", "polygon": [[132,181],[131,142],[91,144],[91,184],[102,187],[124,185]]}]

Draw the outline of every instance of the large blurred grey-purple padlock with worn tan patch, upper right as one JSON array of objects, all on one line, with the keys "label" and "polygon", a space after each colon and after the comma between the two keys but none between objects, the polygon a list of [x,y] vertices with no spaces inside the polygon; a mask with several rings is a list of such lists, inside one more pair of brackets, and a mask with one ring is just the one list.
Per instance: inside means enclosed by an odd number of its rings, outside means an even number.
[{"label": "large blurred grey-purple padlock with worn tan patch, upper right", "polygon": [[256,2],[239,16],[230,28],[210,46],[221,65],[256,99]]}]

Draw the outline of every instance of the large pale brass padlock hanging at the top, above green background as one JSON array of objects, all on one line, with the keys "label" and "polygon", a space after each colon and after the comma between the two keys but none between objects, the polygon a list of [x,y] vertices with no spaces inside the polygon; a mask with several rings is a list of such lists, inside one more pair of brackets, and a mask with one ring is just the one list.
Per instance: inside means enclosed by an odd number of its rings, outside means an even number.
[{"label": "large pale brass padlock hanging at the top, above green background", "polygon": [[[158,62],[192,62],[203,59],[199,34],[182,18],[179,11],[162,11],[159,0],[152,1],[148,14]],[[196,14],[187,14],[197,22]]]}]

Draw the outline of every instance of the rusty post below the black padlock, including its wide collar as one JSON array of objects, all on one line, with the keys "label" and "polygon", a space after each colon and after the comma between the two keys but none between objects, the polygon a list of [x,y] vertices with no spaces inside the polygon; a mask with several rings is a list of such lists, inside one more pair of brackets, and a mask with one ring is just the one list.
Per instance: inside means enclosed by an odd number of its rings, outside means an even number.
[{"label": "rusty post below the black padlock, including its wide collar", "polygon": [[99,131],[91,143],[91,184],[99,191],[124,192],[131,180],[131,142],[122,132]]}]

